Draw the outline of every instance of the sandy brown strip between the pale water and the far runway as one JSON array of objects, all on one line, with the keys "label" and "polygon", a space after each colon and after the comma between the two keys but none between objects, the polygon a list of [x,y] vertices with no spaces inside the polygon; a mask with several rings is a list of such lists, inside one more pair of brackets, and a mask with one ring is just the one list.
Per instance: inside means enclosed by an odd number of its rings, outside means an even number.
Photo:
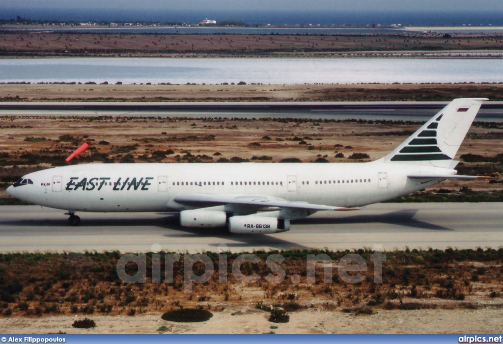
[{"label": "sandy brown strip between the pale water and the far runway", "polygon": [[358,101],[503,99],[503,84],[0,84],[0,101]]}]

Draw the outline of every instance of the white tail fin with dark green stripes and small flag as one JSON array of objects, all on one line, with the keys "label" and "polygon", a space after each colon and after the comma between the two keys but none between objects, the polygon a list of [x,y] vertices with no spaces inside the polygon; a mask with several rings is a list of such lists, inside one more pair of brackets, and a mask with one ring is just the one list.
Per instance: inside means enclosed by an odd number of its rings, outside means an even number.
[{"label": "white tail fin with dark green stripes and small flag", "polygon": [[454,99],[381,161],[451,167],[484,100]]}]

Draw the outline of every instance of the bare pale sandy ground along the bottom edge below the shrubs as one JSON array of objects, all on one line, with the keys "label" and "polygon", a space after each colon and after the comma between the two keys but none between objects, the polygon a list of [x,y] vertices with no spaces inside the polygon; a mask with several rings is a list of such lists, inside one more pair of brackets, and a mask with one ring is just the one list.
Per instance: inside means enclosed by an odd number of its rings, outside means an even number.
[{"label": "bare pale sandy ground along the bottom edge below the shrubs", "polygon": [[[214,312],[213,317],[201,323],[164,321],[161,313],[127,315],[90,315],[96,322],[92,329],[76,329],[73,321],[82,315],[42,316],[32,318],[0,318],[4,333],[501,333],[503,309],[501,306],[484,309],[421,309],[380,310],[373,315],[354,315],[339,311],[306,309],[289,313],[288,323],[268,321],[269,312],[246,307]],[[277,328],[271,328],[277,326]]]}]

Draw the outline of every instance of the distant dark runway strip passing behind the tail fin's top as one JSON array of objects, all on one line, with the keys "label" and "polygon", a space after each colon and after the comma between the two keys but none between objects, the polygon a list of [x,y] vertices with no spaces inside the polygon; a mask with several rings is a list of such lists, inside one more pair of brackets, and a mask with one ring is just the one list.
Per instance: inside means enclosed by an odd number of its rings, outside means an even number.
[{"label": "distant dark runway strip passing behind the tail fin's top", "polygon": [[[0,116],[427,121],[446,104],[445,101],[3,102]],[[503,122],[503,102],[484,102],[475,120]]]}]

